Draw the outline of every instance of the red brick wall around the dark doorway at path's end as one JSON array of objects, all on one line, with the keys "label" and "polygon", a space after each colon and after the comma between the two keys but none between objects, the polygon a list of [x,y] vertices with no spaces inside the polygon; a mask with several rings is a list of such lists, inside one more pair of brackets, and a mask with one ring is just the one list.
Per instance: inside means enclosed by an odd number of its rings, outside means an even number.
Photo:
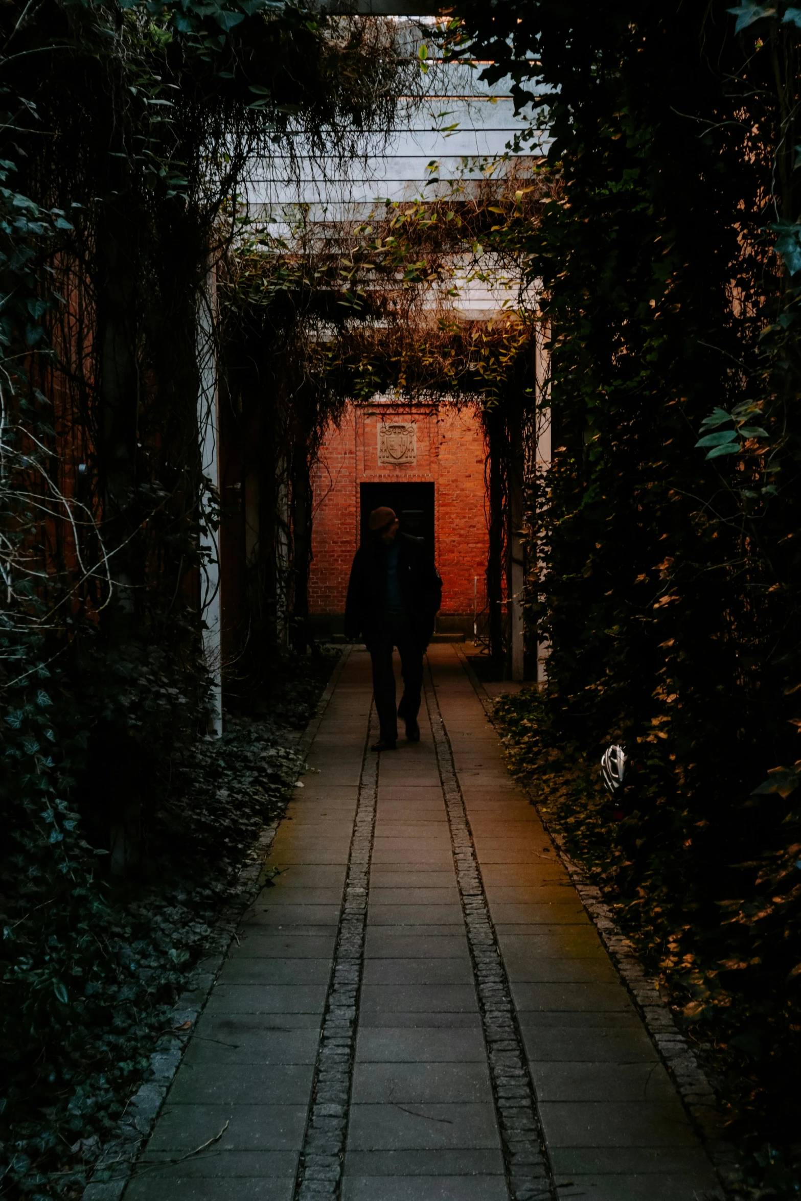
[{"label": "red brick wall around the dark doorway at path's end", "polygon": [[[417,464],[378,465],[378,423],[417,424]],[[441,616],[473,614],[485,603],[488,533],[484,435],[472,408],[442,405],[430,411],[397,404],[348,405],[330,426],[313,476],[312,617],[345,611],[351,563],[359,544],[359,484],[391,479],[434,484],[436,562],[443,578]],[[446,623],[447,625],[447,621]]]}]

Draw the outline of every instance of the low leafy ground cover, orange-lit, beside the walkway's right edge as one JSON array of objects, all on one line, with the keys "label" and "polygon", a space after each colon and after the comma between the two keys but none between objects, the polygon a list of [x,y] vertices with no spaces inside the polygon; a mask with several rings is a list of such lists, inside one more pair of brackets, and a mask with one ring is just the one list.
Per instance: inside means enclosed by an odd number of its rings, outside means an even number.
[{"label": "low leafy ground cover, orange-lit, beside the walkway's right edge", "polygon": [[563,734],[546,695],[504,695],[495,719],[510,766],[603,890],[694,1044],[741,1152],[742,1191],[795,1196],[801,1010],[788,978],[799,948],[797,806],[777,814],[741,802],[731,833],[701,825],[701,855],[688,854],[698,811],[681,794],[659,795],[658,761],[635,759],[633,783],[612,800],[598,758]]}]

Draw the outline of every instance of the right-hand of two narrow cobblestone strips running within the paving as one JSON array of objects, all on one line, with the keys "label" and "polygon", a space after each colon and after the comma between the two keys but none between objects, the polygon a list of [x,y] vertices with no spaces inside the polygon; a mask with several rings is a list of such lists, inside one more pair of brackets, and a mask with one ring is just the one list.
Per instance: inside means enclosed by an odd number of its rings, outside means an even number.
[{"label": "right-hand of two narrow cobblestone strips running within the paving", "polygon": [[522,1039],[476,860],[450,742],[426,665],[425,700],[446,799],[510,1201],[555,1196]]}]

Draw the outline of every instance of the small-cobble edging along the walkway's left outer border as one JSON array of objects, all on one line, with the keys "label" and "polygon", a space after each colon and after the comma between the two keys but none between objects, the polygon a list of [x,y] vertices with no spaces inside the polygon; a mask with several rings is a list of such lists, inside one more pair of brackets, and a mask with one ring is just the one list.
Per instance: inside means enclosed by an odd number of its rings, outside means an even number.
[{"label": "small-cobble edging along the walkway's left outer border", "polygon": [[[301,759],[309,753],[309,748],[315,741],[317,730],[349,655],[351,647],[347,647],[340,656],[339,662],[331,671],[331,677],[317,703],[315,715],[298,741],[297,749]],[[119,1201],[127,1188],[139,1152],[150,1136],[159,1111],[178,1071],[191,1032],[209,999],[220,968],[226,960],[239,920],[263,886],[264,864],[270,853],[281,817],[282,814],[279,814],[263,826],[256,842],[249,850],[237,877],[237,884],[234,885],[234,891],[238,894],[237,900],[227,904],[222,910],[209,938],[210,954],[201,960],[195,969],[193,980],[196,986],[184,992],[175,1003],[172,1012],[174,1033],[172,1036],[162,1038],[157,1050],[150,1057],[154,1078],[141,1085],[128,1101],[119,1123],[120,1134],[103,1147],[100,1159],[95,1164],[91,1179],[82,1194],[82,1201]],[[186,1033],[177,1033],[178,1028],[185,1022],[191,1023]]]}]

